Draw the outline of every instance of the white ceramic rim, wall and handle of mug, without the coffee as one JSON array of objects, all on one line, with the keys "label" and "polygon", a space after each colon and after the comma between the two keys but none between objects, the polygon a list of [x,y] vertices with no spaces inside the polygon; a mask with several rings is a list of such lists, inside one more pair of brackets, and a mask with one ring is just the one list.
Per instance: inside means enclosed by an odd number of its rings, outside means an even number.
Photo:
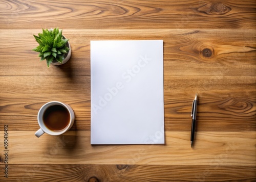
[{"label": "white ceramic rim, wall and handle of mug, without the coffee", "polygon": [[[43,118],[44,118],[45,111],[51,106],[62,106],[64,108],[66,108],[67,111],[69,112],[70,121],[69,121],[68,125],[59,131],[52,131],[44,123]],[[67,103],[63,103],[63,102],[59,102],[59,101],[51,101],[51,102],[46,103],[44,106],[42,106],[40,108],[38,115],[37,115],[37,121],[40,126],[40,129],[38,129],[36,131],[36,133],[35,133],[36,137],[40,137],[44,133],[47,133],[49,135],[61,135],[65,132],[67,132],[73,126],[74,121],[75,121],[75,114],[74,114],[74,111],[72,110],[72,108],[69,105],[67,105]]]}]

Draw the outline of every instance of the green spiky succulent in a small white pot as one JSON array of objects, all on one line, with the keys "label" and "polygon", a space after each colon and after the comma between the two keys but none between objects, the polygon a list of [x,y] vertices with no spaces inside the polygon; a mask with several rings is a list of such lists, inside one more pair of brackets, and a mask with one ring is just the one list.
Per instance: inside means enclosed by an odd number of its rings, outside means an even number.
[{"label": "green spiky succulent in a small white pot", "polygon": [[48,68],[50,64],[61,65],[70,59],[69,39],[62,36],[62,30],[59,31],[58,28],[54,30],[42,29],[42,33],[33,36],[39,45],[32,50],[39,53],[40,61],[46,60]]}]

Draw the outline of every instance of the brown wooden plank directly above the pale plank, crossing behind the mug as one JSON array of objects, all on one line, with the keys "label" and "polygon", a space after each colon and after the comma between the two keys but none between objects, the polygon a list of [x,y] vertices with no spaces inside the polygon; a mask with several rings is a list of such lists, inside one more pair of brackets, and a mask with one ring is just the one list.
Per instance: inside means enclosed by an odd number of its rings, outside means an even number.
[{"label": "brown wooden plank directly above the pale plank, crossing behind the mug", "polygon": [[[165,77],[165,131],[190,131],[191,90],[199,95],[197,131],[256,131],[255,82],[254,76]],[[40,107],[57,100],[73,108],[72,130],[90,130],[89,76],[0,76],[0,83],[0,128],[36,131]]]}]

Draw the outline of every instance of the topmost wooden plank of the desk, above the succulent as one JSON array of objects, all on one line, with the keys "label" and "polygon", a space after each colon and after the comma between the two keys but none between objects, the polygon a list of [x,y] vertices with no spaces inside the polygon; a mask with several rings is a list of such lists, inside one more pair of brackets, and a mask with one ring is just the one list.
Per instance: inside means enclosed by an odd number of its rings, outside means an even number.
[{"label": "topmost wooden plank of the desk, above the succulent", "polygon": [[255,7],[253,0],[3,1],[0,29],[254,29]]}]

